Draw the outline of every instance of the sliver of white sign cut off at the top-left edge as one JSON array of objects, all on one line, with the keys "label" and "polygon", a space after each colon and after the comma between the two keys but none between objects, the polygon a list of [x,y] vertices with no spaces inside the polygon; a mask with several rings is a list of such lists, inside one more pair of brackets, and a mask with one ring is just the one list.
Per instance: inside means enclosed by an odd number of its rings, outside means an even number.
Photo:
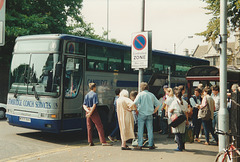
[{"label": "sliver of white sign cut off at the top-left edge", "polygon": [[5,44],[5,11],[6,0],[0,0],[0,46]]}]

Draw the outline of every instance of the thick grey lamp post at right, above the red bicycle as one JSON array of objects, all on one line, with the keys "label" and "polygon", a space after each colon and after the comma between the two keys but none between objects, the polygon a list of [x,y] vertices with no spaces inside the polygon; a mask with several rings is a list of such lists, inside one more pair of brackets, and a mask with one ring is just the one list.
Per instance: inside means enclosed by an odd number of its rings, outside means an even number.
[{"label": "thick grey lamp post at right, above the red bicycle", "polygon": [[[220,109],[218,127],[224,132],[229,130],[229,114],[227,111],[227,0],[220,0]],[[219,152],[228,144],[224,135],[219,135]]]}]

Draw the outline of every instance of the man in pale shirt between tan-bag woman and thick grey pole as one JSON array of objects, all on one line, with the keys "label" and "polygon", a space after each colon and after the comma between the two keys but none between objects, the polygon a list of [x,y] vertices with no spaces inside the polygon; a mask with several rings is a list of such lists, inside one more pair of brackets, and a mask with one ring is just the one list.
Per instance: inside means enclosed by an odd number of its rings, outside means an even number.
[{"label": "man in pale shirt between tan-bag woman and thick grey pole", "polygon": [[214,85],[212,87],[212,98],[215,102],[215,110],[213,115],[212,127],[213,129],[218,129],[218,111],[220,109],[220,96],[219,96],[219,86],[217,85]]}]

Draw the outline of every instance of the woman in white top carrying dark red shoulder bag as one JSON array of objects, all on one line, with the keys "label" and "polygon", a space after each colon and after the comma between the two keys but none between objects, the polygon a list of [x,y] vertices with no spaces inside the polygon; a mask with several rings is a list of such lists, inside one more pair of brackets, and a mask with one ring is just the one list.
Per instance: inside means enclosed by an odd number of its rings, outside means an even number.
[{"label": "woman in white top carrying dark red shoulder bag", "polygon": [[[182,99],[182,91],[180,89],[177,89],[175,92],[176,98],[172,102],[172,104],[169,107],[169,117],[173,114],[177,114],[178,116],[185,113],[187,116],[187,111],[188,111],[188,103]],[[187,117],[188,120],[188,117]],[[175,128],[172,128],[172,132],[175,134],[175,139],[178,144],[177,149],[175,151],[182,151],[185,149],[185,143],[183,142],[183,135],[185,133],[185,126],[186,126],[186,121],[181,123]]]}]

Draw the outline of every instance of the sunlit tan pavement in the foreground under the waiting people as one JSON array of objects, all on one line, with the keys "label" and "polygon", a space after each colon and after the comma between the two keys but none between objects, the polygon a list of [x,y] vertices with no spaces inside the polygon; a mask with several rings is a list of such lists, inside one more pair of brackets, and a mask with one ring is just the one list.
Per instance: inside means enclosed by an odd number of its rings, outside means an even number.
[{"label": "sunlit tan pavement in the foreground under the waiting people", "polygon": [[[218,146],[214,143],[212,145],[204,145],[204,141],[202,138],[200,143],[186,143],[185,151],[176,152],[174,149],[176,149],[177,145],[173,138],[167,138],[167,135],[158,133],[154,133],[154,142],[157,146],[154,150],[147,148],[143,150],[121,150],[121,141],[114,142],[113,146],[102,146],[96,138],[94,139],[95,146],[88,146],[85,140],[77,145],[42,150],[3,160],[24,162],[212,162],[218,153]],[[130,146],[130,144],[128,145]]]}]

